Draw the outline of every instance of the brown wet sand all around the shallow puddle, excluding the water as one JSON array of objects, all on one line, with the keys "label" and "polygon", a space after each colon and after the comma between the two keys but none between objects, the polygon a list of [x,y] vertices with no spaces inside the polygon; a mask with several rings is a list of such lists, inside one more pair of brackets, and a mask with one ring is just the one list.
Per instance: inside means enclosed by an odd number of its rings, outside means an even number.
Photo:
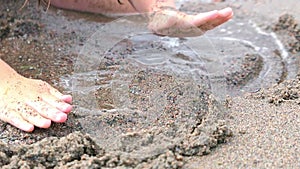
[{"label": "brown wet sand all around the shallow puddle, excluding the water", "polygon": [[[273,2],[272,7],[281,9],[280,3]],[[32,3],[17,13],[16,4],[10,1],[3,4],[1,59],[27,77],[41,78],[62,91],[71,92],[60,85],[60,77],[74,73],[72,65],[80,46],[110,19],[57,9],[43,13]],[[18,4],[21,6],[21,2]],[[292,1],[286,4],[295,5]],[[275,31],[289,56],[299,57],[299,28],[290,26],[299,23],[297,11],[290,10],[296,20],[289,20],[288,16],[278,22],[282,11],[263,13],[270,5],[264,3],[256,4],[255,11],[249,11],[253,4],[239,3],[219,3],[204,8],[202,4],[191,2],[187,7],[190,11],[203,11],[227,5],[234,8],[237,18],[251,17],[262,29]],[[182,10],[187,7],[183,6]],[[117,49],[114,54],[118,58],[122,52]],[[107,56],[105,64],[95,69],[113,67],[115,71],[120,60],[112,59],[113,56]],[[237,86],[248,83],[249,79],[242,79],[243,73],[250,79],[258,76],[259,62],[253,62],[251,57],[245,62],[242,65],[254,70],[242,69],[234,80],[229,79],[229,85],[233,81],[238,82],[234,83]],[[130,72],[136,67],[123,68],[124,72]],[[114,91],[101,88],[96,91],[98,106],[107,112],[88,114],[75,108],[67,123],[55,124],[48,130],[38,129],[32,134],[0,123],[0,164],[7,168],[26,165],[48,168],[299,167],[300,83],[296,75],[290,80],[286,79],[288,76],[275,80],[280,84],[271,89],[228,98],[226,104],[221,105],[206,86],[195,85],[184,77],[151,69],[135,72],[138,73],[128,82],[130,110],[112,112],[116,108],[111,98]],[[110,76],[106,78],[109,80]],[[147,98],[157,99],[161,105],[153,106]],[[74,104],[82,105],[80,100]]]}]

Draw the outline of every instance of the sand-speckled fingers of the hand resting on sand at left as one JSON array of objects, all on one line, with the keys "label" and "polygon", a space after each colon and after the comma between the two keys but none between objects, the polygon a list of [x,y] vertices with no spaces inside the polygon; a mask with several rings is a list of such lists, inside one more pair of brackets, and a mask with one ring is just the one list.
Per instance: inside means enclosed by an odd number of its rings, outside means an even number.
[{"label": "sand-speckled fingers of the hand resting on sand at left", "polygon": [[51,121],[65,122],[67,114],[63,111],[69,112],[72,109],[71,105],[58,101],[54,97],[28,101],[26,104],[12,103],[10,106],[11,108],[0,112],[0,119],[26,132],[32,132],[34,126],[49,128]]}]

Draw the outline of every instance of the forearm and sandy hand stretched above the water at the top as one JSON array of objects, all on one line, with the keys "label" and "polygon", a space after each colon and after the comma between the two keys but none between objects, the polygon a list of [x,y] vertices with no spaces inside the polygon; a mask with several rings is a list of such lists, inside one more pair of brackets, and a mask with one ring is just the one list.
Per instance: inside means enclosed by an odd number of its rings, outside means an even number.
[{"label": "forearm and sandy hand stretched above the water at the top", "polygon": [[[120,4],[121,2],[121,4]],[[231,8],[188,15],[174,0],[51,0],[55,6],[102,14],[149,13],[149,29],[168,36],[200,36],[233,16]]]}]

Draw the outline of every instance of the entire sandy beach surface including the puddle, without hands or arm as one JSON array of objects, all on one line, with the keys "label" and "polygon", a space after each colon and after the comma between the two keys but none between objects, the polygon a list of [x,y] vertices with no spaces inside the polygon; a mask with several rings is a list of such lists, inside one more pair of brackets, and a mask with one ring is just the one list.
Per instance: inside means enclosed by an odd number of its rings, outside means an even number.
[{"label": "entire sandy beach surface including the puddle, without hands or arm", "polygon": [[2,2],[0,58],[75,109],[33,133],[0,122],[3,168],[300,167],[300,2],[189,1],[235,12],[192,39],[29,2]]}]

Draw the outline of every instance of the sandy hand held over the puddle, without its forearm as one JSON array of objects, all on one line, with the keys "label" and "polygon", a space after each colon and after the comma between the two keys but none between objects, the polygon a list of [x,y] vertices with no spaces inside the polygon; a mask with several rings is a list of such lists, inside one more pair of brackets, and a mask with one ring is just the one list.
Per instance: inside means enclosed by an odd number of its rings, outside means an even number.
[{"label": "sandy hand held over the puddle, without its forearm", "polygon": [[161,7],[150,15],[148,28],[156,34],[171,37],[200,36],[232,17],[231,8],[188,15],[172,7]]}]

